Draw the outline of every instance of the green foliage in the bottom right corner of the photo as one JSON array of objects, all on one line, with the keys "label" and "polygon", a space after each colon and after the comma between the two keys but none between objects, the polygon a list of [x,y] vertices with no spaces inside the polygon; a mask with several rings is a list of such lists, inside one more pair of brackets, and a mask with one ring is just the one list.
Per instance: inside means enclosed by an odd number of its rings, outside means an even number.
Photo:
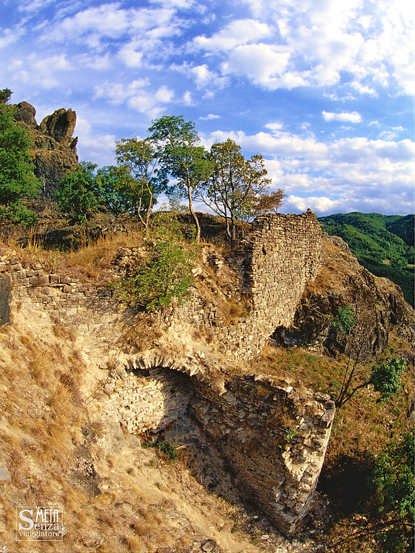
[{"label": "green foliage in the bottom right corner of the photo", "polygon": [[389,447],[376,462],[375,514],[369,521],[383,552],[414,551],[414,432]]}]

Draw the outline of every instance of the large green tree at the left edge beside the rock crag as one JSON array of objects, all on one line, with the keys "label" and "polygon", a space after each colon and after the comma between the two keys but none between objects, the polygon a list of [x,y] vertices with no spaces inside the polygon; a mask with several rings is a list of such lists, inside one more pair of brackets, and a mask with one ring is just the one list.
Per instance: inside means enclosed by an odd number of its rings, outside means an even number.
[{"label": "large green tree at the left edge beside the rock crag", "polygon": [[[2,92],[5,90],[8,88]],[[21,202],[37,196],[39,180],[28,154],[32,140],[28,131],[15,122],[14,113],[15,106],[0,102],[0,216],[17,223],[33,223],[33,212]]]}]

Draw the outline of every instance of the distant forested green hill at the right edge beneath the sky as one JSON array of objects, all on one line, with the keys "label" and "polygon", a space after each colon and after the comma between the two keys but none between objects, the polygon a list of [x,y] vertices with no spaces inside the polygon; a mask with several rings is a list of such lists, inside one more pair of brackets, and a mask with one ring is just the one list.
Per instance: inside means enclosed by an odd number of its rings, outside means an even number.
[{"label": "distant forested green hill at the right edge beneath the sky", "polygon": [[367,270],[398,284],[414,306],[414,215],[339,213],[319,221],[324,232],[349,244]]}]

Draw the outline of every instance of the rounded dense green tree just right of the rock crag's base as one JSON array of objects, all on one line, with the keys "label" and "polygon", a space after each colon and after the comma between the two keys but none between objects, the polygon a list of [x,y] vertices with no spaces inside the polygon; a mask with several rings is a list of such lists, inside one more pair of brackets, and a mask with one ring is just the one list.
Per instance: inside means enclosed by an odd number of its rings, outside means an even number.
[{"label": "rounded dense green tree just right of the rock crag's base", "polygon": [[97,211],[102,196],[100,182],[94,174],[96,167],[94,163],[82,162],[80,167],[64,176],[55,190],[55,200],[60,209],[68,214],[71,225],[84,223],[87,243],[88,221]]}]

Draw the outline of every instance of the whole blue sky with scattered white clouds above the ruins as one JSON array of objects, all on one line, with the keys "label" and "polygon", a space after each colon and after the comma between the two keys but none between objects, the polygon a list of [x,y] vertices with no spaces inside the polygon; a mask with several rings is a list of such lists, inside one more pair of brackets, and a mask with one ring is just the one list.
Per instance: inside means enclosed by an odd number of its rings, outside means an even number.
[{"label": "whole blue sky with scattered white clouds above the ruins", "polygon": [[0,88],[77,113],[81,160],[183,115],[262,153],[282,212],[414,212],[407,0],[6,0]]}]

